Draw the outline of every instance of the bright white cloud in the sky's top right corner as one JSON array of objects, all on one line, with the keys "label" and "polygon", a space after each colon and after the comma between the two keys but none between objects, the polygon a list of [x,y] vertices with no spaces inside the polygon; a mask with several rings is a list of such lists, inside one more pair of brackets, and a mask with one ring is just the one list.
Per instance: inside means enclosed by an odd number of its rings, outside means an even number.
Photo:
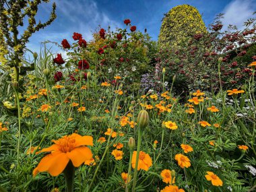
[{"label": "bright white cloud in the sky's top right corner", "polygon": [[255,11],[254,0],[233,0],[231,1],[222,13],[224,13],[224,29],[226,30],[229,24],[235,25],[238,30],[244,28],[243,24],[252,17]]}]

